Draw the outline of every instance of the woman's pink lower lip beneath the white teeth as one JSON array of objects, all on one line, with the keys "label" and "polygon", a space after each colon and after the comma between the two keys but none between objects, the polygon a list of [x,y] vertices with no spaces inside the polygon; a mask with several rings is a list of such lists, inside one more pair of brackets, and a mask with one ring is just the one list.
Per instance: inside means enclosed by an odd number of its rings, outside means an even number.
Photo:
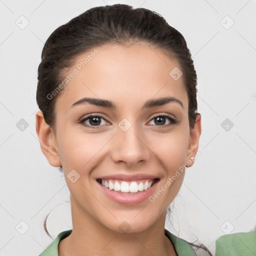
[{"label": "woman's pink lower lip beneath the white teeth", "polygon": [[113,201],[121,203],[121,204],[137,204],[137,203],[140,203],[140,202],[143,202],[144,200],[146,200],[153,193],[158,181],[156,181],[148,189],[134,193],[134,194],[123,194],[123,193],[117,192],[115,190],[110,190],[110,189],[102,186],[99,182],[97,182],[97,181],[96,182],[101,187],[102,191]]}]

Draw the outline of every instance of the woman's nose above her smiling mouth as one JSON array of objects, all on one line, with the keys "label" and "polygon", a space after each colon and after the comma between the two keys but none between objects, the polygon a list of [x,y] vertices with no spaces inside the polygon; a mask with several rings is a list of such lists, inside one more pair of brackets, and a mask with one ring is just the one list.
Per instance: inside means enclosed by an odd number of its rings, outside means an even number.
[{"label": "woman's nose above her smiling mouth", "polygon": [[131,125],[126,131],[117,127],[111,150],[112,160],[125,162],[126,167],[134,167],[138,162],[147,161],[150,149],[146,145],[146,137],[136,125]]}]

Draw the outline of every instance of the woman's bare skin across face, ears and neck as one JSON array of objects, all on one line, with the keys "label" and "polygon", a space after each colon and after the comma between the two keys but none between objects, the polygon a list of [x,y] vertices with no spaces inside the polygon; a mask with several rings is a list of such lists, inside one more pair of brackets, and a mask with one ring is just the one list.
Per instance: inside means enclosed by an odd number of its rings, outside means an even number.
[{"label": "woman's bare skin across face, ears and neck", "polygon": [[[72,78],[57,96],[54,130],[41,111],[36,113],[36,132],[43,154],[55,167],[62,165],[70,190],[72,233],[59,242],[65,255],[176,255],[164,235],[166,208],[178,193],[184,172],[154,202],[122,205],[109,199],[95,178],[108,174],[147,173],[160,178],[157,191],[190,156],[196,154],[201,134],[198,114],[193,129],[188,123],[188,97],[182,76],[174,80],[169,72],[179,63],[160,49],[143,43],[97,47],[99,52]],[[91,52],[91,51],[90,51]],[[76,62],[88,52],[80,54]],[[74,65],[75,66],[75,65]],[[72,67],[73,68],[73,67]],[[71,68],[71,69],[72,69]],[[71,70],[70,69],[70,70]],[[67,72],[68,73],[68,72]],[[141,109],[148,99],[173,96],[177,102]],[[116,109],[84,103],[70,106],[83,97],[113,101]],[[154,114],[169,114],[171,124],[154,121]],[[97,128],[78,123],[87,114],[105,119]],[[126,118],[131,127],[123,131],[118,123]],[[85,123],[92,126],[87,119]],[[95,127],[95,126],[94,126]],[[158,128],[157,128],[158,127]],[[191,166],[187,164],[187,166]],[[75,169],[80,178],[67,178]],[[126,221],[130,230],[118,226]]]}]

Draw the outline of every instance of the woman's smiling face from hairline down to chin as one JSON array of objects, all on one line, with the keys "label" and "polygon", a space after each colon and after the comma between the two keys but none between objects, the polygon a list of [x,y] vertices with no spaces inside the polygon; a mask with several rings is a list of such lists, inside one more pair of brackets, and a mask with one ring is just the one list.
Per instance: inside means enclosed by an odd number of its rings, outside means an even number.
[{"label": "woman's smiling face from hairline down to chin", "polygon": [[196,153],[200,122],[190,132],[183,77],[169,75],[181,69],[175,59],[144,44],[96,48],[86,65],[79,63],[90,52],[67,72],[77,70],[56,99],[49,150],[62,165],[72,210],[117,232],[123,221],[145,230],[176,196],[184,171],[172,177]]}]

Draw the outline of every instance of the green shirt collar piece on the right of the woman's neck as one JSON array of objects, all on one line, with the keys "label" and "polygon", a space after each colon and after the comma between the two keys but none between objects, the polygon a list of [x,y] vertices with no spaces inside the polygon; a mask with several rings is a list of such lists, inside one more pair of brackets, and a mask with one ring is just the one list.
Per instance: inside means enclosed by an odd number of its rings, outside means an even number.
[{"label": "green shirt collar piece on the right of the woman's neck", "polygon": [[194,249],[186,240],[175,236],[167,229],[164,229],[164,234],[169,238],[178,256],[196,256]]}]

